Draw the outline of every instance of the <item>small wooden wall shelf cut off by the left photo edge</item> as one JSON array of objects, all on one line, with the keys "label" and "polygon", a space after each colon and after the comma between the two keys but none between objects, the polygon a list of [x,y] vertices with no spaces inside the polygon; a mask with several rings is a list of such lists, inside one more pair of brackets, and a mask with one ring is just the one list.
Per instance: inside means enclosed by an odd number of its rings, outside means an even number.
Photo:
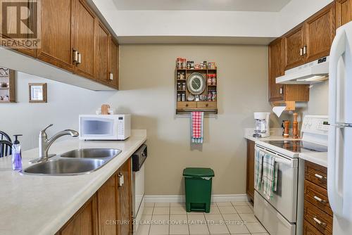
[{"label": "small wooden wall shelf cut off by the left photo edge", "polygon": [[0,103],[16,101],[15,71],[0,67]]}]

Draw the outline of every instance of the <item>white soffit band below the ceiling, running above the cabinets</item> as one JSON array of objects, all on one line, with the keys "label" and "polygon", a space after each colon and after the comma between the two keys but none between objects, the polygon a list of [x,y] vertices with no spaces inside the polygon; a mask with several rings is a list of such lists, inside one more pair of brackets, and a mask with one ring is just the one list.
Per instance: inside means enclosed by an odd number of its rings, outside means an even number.
[{"label": "white soffit band below the ceiling, running above the cabinets", "polygon": [[275,38],[291,30],[333,0],[291,0],[279,12],[118,11],[112,0],[90,1],[119,37]]}]

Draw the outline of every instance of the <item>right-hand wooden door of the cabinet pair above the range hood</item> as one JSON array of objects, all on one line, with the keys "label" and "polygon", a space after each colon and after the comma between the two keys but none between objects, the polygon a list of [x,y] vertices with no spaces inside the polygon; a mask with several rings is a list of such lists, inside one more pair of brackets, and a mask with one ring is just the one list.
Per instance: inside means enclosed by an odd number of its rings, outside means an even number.
[{"label": "right-hand wooden door of the cabinet pair above the range hood", "polygon": [[335,37],[334,3],[315,13],[305,22],[306,63],[328,56]]}]

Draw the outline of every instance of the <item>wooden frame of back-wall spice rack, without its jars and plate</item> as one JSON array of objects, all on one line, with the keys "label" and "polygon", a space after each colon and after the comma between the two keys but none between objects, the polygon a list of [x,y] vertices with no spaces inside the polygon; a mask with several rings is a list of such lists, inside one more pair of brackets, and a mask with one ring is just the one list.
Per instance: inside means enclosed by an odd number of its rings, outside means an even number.
[{"label": "wooden frame of back-wall spice rack, without its jars and plate", "polygon": [[[178,79],[178,73],[184,73],[184,79]],[[187,97],[189,95],[194,96],[194,94],[191,94],[187,87],[187,80],[189,75],[191,75],[194,72],[199,72],[205,80],[206,88],[204,91],[199,94],[199,97],[201,96],[206,96],[206,100],[203,101],[187,101]],[[208,84],[208,75],[214,75],[215,76],[215,84]],[[183,86],[186,87],[186,89],[178,89],[177,85],[178,84],[185,84]],[[187,68],[182,68],[178,69],[176,68],[175,70],[175,91],[176,91],[176,114],[182,114],[182,113],[191,113],[194,111],[199,111],[199,112],[204,112],[204,113],[213,113],[213,114],[218,114],[218,89],[217,89],[217,84],[218,84],[218,73],[217,69],[210,69],[210,68],[203,68],[203,69],[187,69]],[[215,101],[211,98],[211,100],[208,101],[209,96],[208,93],[211,92],[213,94],[213,91],[215,92]],[[177,96],[181,96],[181,101],[177,99]],[[182,101],[182,95],[185,96],[185,101]]]}]

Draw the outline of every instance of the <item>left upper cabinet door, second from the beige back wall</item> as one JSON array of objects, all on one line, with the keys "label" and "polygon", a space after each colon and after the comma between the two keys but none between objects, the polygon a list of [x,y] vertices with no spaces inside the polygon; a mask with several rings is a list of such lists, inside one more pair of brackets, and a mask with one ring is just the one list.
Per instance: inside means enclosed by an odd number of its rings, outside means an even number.
[{"label": "left upper cabinet door, second from the beige back wall", "polygon": [[96,80],[108,83],[108,62],[110,49],[110,33],[97,20],[96,25]]}]

